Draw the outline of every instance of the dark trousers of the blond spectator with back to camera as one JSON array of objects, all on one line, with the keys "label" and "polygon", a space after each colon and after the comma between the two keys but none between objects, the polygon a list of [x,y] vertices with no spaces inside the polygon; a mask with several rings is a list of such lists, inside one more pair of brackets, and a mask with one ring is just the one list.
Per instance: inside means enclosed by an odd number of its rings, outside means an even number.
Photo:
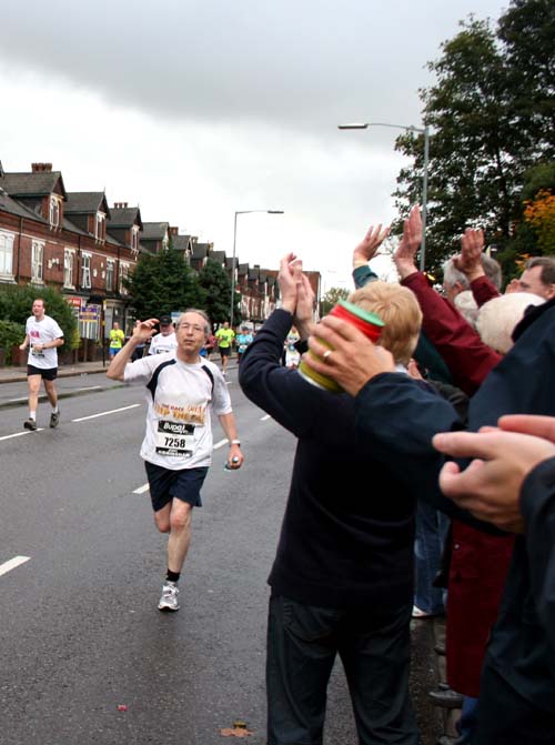
[{"label": "dark trousers of the blond spectator with back to camera", "polygon": [[339,654],[361,745],[417,745],[408,699],[412,602],[401,610],[321,608],[270,600],[268,745],[321,745]]}]

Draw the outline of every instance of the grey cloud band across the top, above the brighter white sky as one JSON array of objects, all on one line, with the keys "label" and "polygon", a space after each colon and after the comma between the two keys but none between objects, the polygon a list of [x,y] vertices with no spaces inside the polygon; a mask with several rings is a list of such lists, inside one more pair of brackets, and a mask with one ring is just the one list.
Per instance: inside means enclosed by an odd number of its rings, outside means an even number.
[{"label": "grey cloud band across the top, above the brighter white sky", "polygon": [[386,108],[412,120],[424,64],[467,4],[4,0],[0,57],[159,117],[312,128]]}]

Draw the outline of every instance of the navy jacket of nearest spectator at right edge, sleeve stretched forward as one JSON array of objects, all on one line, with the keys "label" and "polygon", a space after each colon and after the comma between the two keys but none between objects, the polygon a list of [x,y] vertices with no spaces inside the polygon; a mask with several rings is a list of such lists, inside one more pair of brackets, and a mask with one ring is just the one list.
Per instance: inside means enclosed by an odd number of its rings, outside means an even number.
[{"label": "navy jacket of nearest spectator at right edge, sleeve stretched forward", "polygon": [[[472,431],[496,424],[503,414],[555,416],[555,301],[536,306],[517,328],[515,339],[513,349],[471,401],[468,429]],[[431,401],[411,380],[393,373],[377,375],[356,397],[357,431],[367,443],[369,453],[384,466],[397,463],[407,487],[415,494],[425,494],[452,516],[491,530],[487,523],[480,523],[455,507],[438,487],[437,475],[444,457],[433,450],[431,437],[436,432],[460,426],[454,414],[447,402]],[[418,455],[417,461],[411,457],[414,453]],[[539,472],[525,485],[523,511],[528,521],[528,535],[516,537],[485,664],[519,696],[553,715],[555,737],[555,517],[552,513],[551,520],[545,522],[545,516],[538,516],[544,501],[553,511],[553,470],[545,467],[544,472],[539,466]],[[536,495],[536,485],[543,496]],[[539,502],[536,503],[536,499]]]}]

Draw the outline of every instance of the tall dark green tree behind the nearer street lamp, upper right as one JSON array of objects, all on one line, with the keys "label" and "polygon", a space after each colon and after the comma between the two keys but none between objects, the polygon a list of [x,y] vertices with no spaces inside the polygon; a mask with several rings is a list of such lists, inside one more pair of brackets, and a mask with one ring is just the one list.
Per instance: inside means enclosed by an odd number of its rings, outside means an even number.
[{"label": "tall dark green tree behind the nearer street lamp, upper right", "polygon": [[[531,167],[555,153],[555,3],[513,0],[495,32],[470,18],[445,41],[428,68],[435,83],[420,91],[431,128],[426,269],[458,250],[468,225],[511,258],[529,245],[515,232],[523,215],[523,184]],[[395,192],[406,214],[421,201],[423,135],[403,134],[396,148],[414,159]],[[507,259],[507,261],[511,259]]]}]

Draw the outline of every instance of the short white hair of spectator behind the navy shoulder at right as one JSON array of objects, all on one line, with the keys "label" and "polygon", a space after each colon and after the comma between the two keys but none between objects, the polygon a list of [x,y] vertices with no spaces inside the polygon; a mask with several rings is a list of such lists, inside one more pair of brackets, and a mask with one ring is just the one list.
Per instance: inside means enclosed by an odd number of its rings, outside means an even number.
[{"label": "short white hair of spectator behind the navy shoulder at right", "polygon": [[506,354],[513,346],[513,331],[531,305],[545,303],[532,292],[509,292],[488,300],[482,305],[476,319],[476,331],[484,344],[500,354]]}]

